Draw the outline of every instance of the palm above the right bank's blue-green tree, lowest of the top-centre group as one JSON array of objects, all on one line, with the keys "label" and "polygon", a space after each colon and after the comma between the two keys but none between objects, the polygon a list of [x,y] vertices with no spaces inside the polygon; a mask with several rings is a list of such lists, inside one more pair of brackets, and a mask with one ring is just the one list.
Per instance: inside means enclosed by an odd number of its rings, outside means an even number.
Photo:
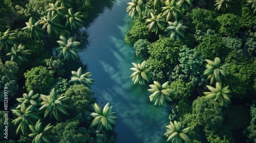
[{"label": "palm above the right bank's blue-green tree, lowest of the top-centre group", "polygon": [[174,21],[169,22],[169,26],[165,29],[167,32],[167,36],[170,36],[171,38],[176,38],[177,40],[180,40],[181,37],[185,37],[185,30],[187,29],[186,26],[183,26],[182,21]]}]

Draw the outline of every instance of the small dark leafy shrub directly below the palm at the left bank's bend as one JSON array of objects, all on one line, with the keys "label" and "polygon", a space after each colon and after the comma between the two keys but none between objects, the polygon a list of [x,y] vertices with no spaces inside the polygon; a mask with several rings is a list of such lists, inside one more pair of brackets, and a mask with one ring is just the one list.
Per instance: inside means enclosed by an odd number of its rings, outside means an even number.
[{"label": "small dark leafy shrub directly below the palm at the left bank's bend", "polygon": [[63,66],[65,65],[60,59],[45,59],[46,65],[48,69],[53,69],[54,73],[57,73],[59,76],[63,76],[65,73],[65,68]]}]

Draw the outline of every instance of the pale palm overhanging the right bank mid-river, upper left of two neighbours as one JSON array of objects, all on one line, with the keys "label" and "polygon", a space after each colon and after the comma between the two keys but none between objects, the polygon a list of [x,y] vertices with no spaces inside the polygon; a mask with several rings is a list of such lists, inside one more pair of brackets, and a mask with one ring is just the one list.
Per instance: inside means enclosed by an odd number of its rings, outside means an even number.
[{"label": "pale palm overhanging the right bank mid-river, upper left of two neighbours", "polygon": [[145,81],[150,82],[153,78],[152,68],[146,65],[146,61],[141,64],[132,63],[134,67],[130,68],[134,71],[131,78],[134,84],[139,83],[140,85],[145,85]]}]

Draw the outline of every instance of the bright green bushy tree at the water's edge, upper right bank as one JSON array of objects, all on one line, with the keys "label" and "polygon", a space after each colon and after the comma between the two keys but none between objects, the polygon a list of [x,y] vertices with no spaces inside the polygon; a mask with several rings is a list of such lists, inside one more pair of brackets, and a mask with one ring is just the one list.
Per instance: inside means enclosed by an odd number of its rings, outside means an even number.
[{"label": "bright green bushy tree at the water's edge, upper right bank", "polygon": [[146,23],[140,21],[140,19],[134,20],[134,25],[131,30],[125,34],[126,43],[134,43],[139,39],[148,39],[150,38],[151,33],[146,28]]}]

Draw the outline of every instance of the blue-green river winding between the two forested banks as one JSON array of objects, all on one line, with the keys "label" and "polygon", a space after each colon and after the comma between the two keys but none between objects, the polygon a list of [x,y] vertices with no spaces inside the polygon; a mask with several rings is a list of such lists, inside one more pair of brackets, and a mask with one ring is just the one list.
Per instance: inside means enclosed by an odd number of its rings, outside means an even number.
[{"label": "blue-green river winding between the two forested banks", "polygon": [[130,78],[132,62],[141,62],[141,59],[136,57],[133,47],[124,42],[125,30],[132,22],[125,10],[128,2],[130,0],[114,1],[111,8],[104,7],[97,18],[82,29],[89,37],[79,55],[93,74],[92,91],[97,102],[101,106],[110,102],[117,112],[117,142],[165,142],[167,109],[150,103],[147,86],[133,85]]}]

